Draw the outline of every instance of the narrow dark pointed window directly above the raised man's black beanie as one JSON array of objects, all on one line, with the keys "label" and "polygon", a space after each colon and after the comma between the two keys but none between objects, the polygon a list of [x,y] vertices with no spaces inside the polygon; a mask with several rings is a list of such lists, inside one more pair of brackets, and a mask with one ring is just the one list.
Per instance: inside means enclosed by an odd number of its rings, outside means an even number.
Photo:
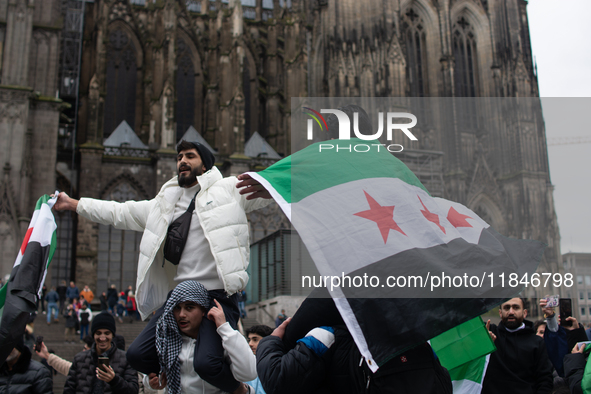
[{"label": "narrow dark pointed window directly above the raised man's black beanie", "polygon": [[195,125],[195,65],[191,49],[179,38],[177,45],[176,71],[176,141],[178,142],[190,126]]}]

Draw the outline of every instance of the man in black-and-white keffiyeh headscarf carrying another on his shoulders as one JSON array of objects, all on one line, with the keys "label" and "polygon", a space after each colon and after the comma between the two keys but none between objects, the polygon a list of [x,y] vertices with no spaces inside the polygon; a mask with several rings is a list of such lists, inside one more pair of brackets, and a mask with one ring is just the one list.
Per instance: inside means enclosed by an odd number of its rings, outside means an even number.
[{"label": "man in black-and-white keffiyeh headscarf carrying another on his shoulders", "polygon": [[[150,387],[166,386],[170,394],[222,393],[193,369],[195,343],[202,339],[199,331],[208,319],[217,327],[234,378],[244,382],[256,377],[256,359],[246,339],[226,321],[221,304],[213,301],[215,305],[209,309],[212,304],[209,293],[196,281],[182,282],[172,291],[156,324],[156,349],[162,371],[160,377],[157,374],[147,377]],[[248,385],[245,389],[252,390]]]}]

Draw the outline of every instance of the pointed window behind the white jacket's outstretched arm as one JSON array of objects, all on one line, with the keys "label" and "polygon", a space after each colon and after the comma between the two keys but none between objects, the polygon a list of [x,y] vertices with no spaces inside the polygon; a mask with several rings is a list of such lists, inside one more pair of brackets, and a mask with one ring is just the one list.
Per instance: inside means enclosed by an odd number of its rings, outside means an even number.
[{"label": "pointed window behind the white jacket's outstretched arm", "polygon": [[[129,183],[121,182],[104,196],[104,199],[119,202],[137,201],[140,196]],[[119,291],[129,285],[135,287],[141,237],[140,232],[99,225],[96,283],[98,294],[106,291],[112,284],[115,284]]]}]

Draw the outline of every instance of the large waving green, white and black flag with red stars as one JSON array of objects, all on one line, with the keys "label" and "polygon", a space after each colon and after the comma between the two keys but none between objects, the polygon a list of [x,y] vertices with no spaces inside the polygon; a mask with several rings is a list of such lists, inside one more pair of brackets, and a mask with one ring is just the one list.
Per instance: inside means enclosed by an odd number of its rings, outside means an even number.
[{"label": "large waving green, white and black flag with red stars", "polygon": [[298,231],[372,370],[513,297],[523,285],[510,275],[536,270],[542,243],[431,197],[377,141],[328,142],[249,174]]}]

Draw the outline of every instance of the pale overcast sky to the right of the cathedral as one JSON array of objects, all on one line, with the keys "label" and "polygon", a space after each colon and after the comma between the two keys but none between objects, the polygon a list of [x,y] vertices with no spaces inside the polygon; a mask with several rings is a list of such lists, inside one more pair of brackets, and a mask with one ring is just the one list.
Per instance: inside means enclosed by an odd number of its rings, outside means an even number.
[{"label": "pale overcast sky to the right of the cathedral", "polygon": [[591,1],[529,0],[527,8],[546,135],[590,140],[548,146],[561,251],[591,253]]}]

